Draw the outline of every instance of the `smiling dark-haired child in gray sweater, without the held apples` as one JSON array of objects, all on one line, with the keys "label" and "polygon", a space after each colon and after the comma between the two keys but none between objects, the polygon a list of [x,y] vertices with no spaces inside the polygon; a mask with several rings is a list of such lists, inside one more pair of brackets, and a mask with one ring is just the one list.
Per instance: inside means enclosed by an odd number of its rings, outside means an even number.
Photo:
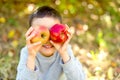
[{"label": "smiling dark-haired child in gray sweater, without the held apples", "polygon": [[72,38],[68,28],[68,39],[63,43],[52,41],[46,44],[31,43],[35,36],[31,32],[40,25],[50,29],[61,24],[60,14],[53,8],[43,6],[30,17],[30,28],[26,32],[26,46],[21,50],[16,80],[85,80],[80,62],[74,57],[69,41]]}]

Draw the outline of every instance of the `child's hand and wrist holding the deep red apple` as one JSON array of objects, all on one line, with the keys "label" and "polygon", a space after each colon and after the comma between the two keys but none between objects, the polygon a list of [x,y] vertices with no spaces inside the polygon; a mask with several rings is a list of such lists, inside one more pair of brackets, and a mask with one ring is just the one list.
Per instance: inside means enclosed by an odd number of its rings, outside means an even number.
[{"label": "child's hand and wrist holding the deep red apple", "polygon": [[50,41],[54,45],[54,47],[57,49],[57,51],[60,53],[61,57],[63,58],[64,63],[67,62],[70,59],[70,57],[67,53],[67,46],[68,46],[68,44],[69,44],[69,42],[72,38],[72,35],[74,33],[72,31],[73,28],[69,28],[67,25],[66,25],[66,27],[67,27],[67,30],[68,30],[68,34],[67,34],[68,39],[63,44],[55,43],[53,41]]}]

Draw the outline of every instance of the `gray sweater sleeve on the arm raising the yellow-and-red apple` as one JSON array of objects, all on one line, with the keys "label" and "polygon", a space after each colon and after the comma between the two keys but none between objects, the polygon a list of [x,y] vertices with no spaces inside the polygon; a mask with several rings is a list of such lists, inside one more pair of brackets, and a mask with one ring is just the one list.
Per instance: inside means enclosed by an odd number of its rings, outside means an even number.
[{"label": "gray sweater sleeve on the arm raising the yellow-and-red apple", "polygon": [[37,80],[38,78],[38,69],[32,71],[26,66],[27,57],[27,47],[24,47],[20,52],[20,61],[17,67],[16,80]]}]

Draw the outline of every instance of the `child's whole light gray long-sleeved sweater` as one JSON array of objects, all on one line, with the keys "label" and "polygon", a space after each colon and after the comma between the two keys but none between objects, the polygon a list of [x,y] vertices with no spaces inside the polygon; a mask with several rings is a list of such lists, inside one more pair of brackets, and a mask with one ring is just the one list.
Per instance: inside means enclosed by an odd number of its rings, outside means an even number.
[{"label": "child's whole light gray long-sleeved sweater", "polygon": [[38,53],[35,61],[36,68],[32,71],[26,66],[27,47],[22,48],[16,80],[85,80],[82,65],[74,57],[70,46],[67,51],[70,60],[65,64],[57,52],[51,57],[45,57]]}]

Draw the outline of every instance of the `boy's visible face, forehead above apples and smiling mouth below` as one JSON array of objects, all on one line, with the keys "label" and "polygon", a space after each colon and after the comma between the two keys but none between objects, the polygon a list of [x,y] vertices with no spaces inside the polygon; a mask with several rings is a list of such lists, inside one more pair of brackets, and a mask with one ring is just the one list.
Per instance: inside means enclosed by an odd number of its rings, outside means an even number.
[{"label": "boy's visible face, forehead above apples and smiling mouth below", "polygon": [[[40,25],[46,26],[48,29],[50,29],[54,24],[60,24],[60,21],[58,19],[54,19],[52,17],[43,17],[43,18],[34,18],[32,21],[32,27],[37,28]],[[55,47],[50,43],[46,43],[42,45],[39,52],[44,56],[51,56],[55,52]]]}]

